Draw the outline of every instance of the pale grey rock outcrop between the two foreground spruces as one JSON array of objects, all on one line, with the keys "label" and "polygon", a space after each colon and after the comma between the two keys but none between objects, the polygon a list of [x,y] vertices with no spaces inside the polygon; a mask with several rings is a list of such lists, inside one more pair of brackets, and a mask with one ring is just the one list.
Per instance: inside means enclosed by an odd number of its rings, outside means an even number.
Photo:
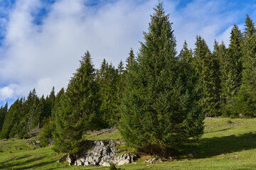
[{"label": "pale grey rock outcrop between the two foreground spruces", "polygon": [[[75,160],[76,166],[87,166],[90,164],[110,166],[110,164],[116,164],[117,166],[122,164],[129,164],[137,159],[137,156],[132,153],[123,153],[117,156],[119,150],[116,149],[116,143],[120,142],[114,140],[107,141],[89,141],[87,143],[87,149],[82,154],[82,157]],[[68,157],[67,161],[71,164],[71,159]]]}]

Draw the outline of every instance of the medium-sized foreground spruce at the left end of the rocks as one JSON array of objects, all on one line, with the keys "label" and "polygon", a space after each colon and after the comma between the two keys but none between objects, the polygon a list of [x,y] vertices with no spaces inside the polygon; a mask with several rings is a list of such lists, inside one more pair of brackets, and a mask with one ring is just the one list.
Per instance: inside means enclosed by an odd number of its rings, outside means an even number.
[{"label": "medium-sized foreground spruce at the left end of the rocks", "polygon": [[55,113],[53,147],[56,152],[68,153],[73,159],[85,147],[85,132],[100,128],[98,88],[88,51],[76,71]]}]

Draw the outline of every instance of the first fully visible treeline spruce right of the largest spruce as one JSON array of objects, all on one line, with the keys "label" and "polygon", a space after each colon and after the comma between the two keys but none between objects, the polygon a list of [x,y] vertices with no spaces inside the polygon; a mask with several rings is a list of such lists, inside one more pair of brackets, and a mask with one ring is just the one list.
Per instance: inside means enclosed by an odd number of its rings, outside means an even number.
[{"label": "first fully visible treeline spruce right of the largest spruce", "polygon": [[219,115],[219,91],[218,91],[218,58],[213,55],[206,41],[201,36],[196,37],[193,66],[196,69],[199,81],[198,89],[201,89],[200,104],[203,113],[207,116]]}]

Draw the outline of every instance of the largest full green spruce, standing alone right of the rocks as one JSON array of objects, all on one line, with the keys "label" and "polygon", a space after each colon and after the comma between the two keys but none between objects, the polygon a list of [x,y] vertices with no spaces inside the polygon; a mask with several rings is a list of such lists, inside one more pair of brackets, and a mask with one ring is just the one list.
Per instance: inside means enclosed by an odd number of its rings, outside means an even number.
[{"label": "largest full green spruce, standing alone right of the rocks", "polygon": [[193,79],[176,58],[169,15],[161,2],[154,11],[146,42],[127,73],[120,125],[128,145],[166,156],[170,148],[202,135],[204,117]]}]

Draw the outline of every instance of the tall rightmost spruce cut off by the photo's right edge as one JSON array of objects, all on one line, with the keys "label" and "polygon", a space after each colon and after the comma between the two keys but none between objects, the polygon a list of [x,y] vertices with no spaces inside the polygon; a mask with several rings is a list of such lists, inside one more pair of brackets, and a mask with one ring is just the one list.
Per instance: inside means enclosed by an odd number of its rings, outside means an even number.
[{"label": "tall rightmost spruce cut off by the photo's right edge", "polygon": [[242,45],[242,85],[233,99],[233,116],[239,114],[256,116],[256,32],[255,23],[247,15],[245,18],[244,42]]}]

